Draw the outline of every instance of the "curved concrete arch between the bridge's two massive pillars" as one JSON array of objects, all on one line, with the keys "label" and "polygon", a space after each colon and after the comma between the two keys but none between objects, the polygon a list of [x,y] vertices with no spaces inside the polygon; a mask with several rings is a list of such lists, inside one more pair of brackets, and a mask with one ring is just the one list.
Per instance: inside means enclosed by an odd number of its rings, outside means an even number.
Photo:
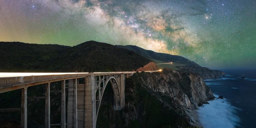
[{"label": "curved concrete arch between the bridge's two massive pillars", "polygon": [[[103,78],[104,79],[104,78]],[[99,109],[100,109],[100,104],[101,104],[101,100],[102,100],[102,97],[103,97],[103,94],[104,94],[104,91],[106,89],[106,86],[108,85],[108,83],[110,83],[111,87],[112,87],[112,90],[113,90],[113,93],[114,93],[114,102],[113,102],[113,108],[114,110],[121,110],[122,109],[122,103],[121,103],[121,91],[120,90],[120,82],[121,81],[118,81],[117,80],[118,78],[116,77],[110,77],[110,78],[107,78],[106,81],[104,81],[103,83],[103,87],[100,89],[100,84],[98,85],[98,91],[100,90],[100,96],[99,96],[99,100],[96,102],[96,122],[97,122],[97,118],[98,118],[98,114],[99,114]]]}]

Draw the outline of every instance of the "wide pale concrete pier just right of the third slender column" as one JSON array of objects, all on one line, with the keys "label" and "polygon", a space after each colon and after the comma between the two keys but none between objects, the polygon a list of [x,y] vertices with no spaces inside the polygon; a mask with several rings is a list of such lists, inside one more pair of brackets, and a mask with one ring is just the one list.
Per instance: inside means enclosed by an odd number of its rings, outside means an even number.
[{"label": "wide pale concrete pier just right of the third slender column", "polygon": [[67,128],[77,128],[76,79],[68,82]]}]

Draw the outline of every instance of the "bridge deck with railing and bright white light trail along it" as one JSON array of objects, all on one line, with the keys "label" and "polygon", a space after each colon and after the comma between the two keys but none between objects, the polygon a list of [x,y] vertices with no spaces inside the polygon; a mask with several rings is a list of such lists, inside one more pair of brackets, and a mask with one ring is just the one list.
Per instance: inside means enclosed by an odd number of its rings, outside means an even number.
[{"label": "bridge deck with railing and bright white light trail along it", "polygon": [[[161,71],[161,70],[156,70]],[[155,72],[155,71],[145,71],[145,72]],[[89,75],[101,76],[101,75],[115,75],[115,74],[132,74],[136,73],[134,71],[128,72],[95,72],[95,73],[0,73],[0,90],[10,87],[19,86],[27,84],[28,86],[33,86],[35,84],[44,84],[48,82],[68,80],[75,78],[83,78]],[[9,90],[1,90],[0,93]]]}]

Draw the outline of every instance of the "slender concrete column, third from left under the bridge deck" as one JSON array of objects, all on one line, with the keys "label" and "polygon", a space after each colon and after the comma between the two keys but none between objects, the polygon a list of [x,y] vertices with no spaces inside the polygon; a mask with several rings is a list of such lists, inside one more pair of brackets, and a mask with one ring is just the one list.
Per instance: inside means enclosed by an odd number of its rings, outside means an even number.
[{"label": "slender concrete column, third from left under the bridge deck", "polygon": [[66,128],[65,80],[61,81],[61,128]]}]

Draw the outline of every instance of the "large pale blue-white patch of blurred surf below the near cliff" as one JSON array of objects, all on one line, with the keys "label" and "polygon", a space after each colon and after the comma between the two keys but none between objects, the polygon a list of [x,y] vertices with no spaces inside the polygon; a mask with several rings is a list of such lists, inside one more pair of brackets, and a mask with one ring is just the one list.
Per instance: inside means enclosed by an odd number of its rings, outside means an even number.
[{"label": "large pale blue-white patch of blurred surf below the near cliff", "polygon": [[[218,95],[214,94],[215,97]],[[239,126],[238,108],[231,106],[226,99],[209,101],[197,110],[199,122],[204,128],[235,128]]]}]

